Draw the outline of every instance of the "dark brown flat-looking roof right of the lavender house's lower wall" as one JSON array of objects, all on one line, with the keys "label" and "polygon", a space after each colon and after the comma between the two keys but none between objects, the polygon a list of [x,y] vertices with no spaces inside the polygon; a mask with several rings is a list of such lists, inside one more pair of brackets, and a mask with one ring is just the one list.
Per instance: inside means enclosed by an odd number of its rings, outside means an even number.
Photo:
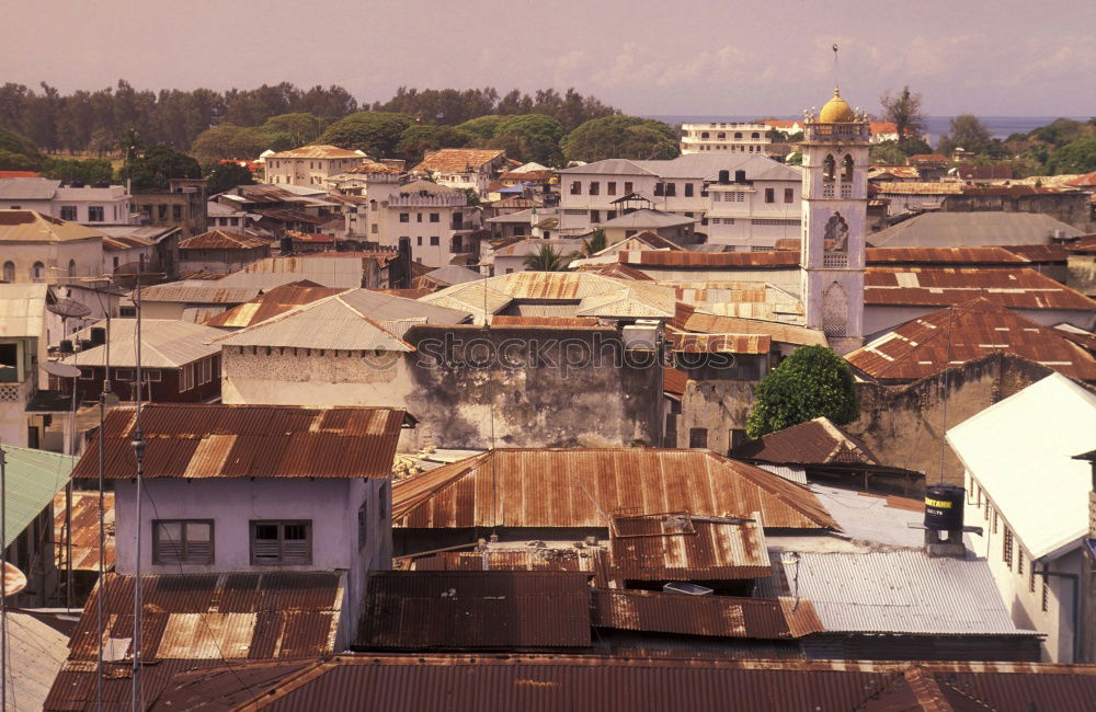
[{"label": "dark brown flat-looking roof right of the lavender house's lower wall", "polygon": [[586,575],[546,571],[380,571],[366,584],[355,645],[528,650],[590,645]]}]

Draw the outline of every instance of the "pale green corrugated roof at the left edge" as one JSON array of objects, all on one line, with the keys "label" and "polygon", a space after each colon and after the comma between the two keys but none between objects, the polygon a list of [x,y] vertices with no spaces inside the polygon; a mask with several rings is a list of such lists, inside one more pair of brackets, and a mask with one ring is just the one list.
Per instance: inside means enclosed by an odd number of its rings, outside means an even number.
[{"label": "pale green corrugated roof at the left edge", "polygon": [[12,445],[2,447],[8,462],[8,518],[3,542],[10,546],[68,484],[76,458]]}]

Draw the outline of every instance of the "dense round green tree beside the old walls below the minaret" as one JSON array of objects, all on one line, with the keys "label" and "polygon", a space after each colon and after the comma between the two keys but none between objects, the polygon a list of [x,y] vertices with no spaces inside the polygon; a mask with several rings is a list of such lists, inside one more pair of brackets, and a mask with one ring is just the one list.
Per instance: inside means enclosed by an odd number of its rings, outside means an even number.
[{"label": "dense round green tree beside the old walls below the minaret", "polygon": [[757,384],[746,434],[758,438],[822,415],[843,425],[858,412],[845,359],[825,346],[802,346]]}]

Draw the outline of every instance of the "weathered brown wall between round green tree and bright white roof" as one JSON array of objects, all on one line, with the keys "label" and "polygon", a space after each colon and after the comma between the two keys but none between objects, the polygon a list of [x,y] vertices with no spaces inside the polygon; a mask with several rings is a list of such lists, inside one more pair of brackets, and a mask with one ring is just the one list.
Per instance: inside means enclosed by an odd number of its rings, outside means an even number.
[{"label": "weathered brown wall between round green tree and bright white roof", "polygon": [[962,485],[962,464],[943,441],[945,380],[946,427],[950,428],[1052,372],[1046,366],[997,353],[909,386],[857,383],[860,415],[844,428],[863,439],[882,464],[924,472],[928,483],[940,478],[943,445],[943,479]]}]

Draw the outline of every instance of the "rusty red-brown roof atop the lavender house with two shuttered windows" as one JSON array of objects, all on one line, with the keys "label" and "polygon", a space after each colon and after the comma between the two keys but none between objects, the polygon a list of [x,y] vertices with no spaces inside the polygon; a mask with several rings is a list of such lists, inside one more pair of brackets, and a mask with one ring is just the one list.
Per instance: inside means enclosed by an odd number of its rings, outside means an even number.
[{"label": "rusty red-brown roof atop the lavender house with two shuttered windows", "polygon": [[[146,478],[388,478],[403,411],[387,407],[149,403]],[[135,476],[135,410],[106,416],[106,472]],[[95,478],[99,439],[72,471]]]}]

